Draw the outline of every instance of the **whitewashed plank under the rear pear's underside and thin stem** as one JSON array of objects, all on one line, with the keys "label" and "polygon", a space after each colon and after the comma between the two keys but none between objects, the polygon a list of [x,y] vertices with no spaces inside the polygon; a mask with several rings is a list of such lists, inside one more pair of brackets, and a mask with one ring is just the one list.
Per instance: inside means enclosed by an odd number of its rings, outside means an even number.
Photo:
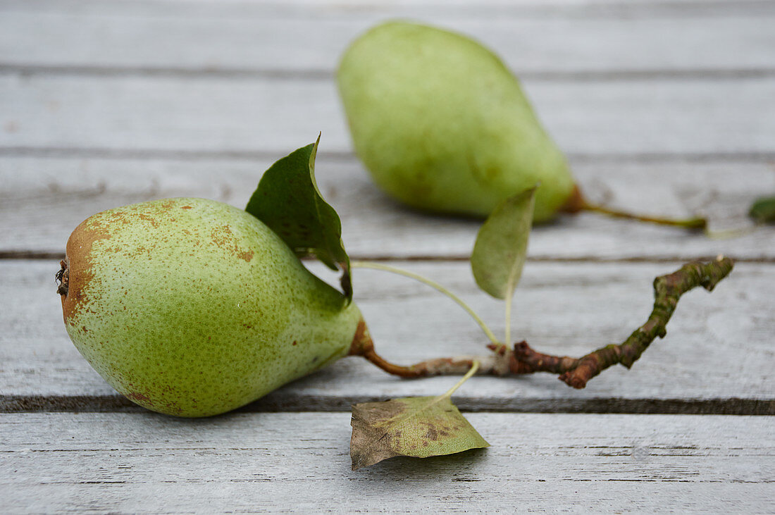
[{"label": "whitewashed plank under the rear pear's underside and thin stem", "polygon": [[[300,142],[299,144],[301,144]],[[243,207],[281,153],[255,159],[0,157],[0,252],[64,252],[84,218],[162,197],[208,197]],[[594,201],[649,215],[708,216],[711,229],[746,227],[754,198],[775,193],[770,163],[574,160]],[[321,153],[316,176],[339,211],[353,256],[470,256],[480,221],[423,215],[387,199],[356,160]],[[611,220],[565,217],[536,228],[531,259],[697,259],[726,253],[775,258],[775,228],[733,239]]]}]

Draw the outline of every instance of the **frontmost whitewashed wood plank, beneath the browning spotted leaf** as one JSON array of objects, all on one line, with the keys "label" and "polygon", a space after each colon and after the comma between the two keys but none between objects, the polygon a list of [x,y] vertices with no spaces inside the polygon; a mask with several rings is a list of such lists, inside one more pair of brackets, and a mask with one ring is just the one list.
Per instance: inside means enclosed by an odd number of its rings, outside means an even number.
[{"label": "frontmost whitewashed wood plank, beneath the browning spotted leaf", "polygon": [[349,414],[0,416],[6,513],[770,513],[772,417],[469,414],[486,450],[350,471]]}]

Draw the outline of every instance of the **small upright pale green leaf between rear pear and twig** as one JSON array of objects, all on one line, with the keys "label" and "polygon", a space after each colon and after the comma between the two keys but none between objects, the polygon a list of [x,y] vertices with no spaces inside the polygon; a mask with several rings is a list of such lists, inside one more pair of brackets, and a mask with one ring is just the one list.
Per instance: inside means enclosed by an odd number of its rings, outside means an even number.
[{"label": "small upright pale green leaf between rear pear and twig", "polygon": [[471,268],[479,287],[493,297],[511,298],[522,276],[536,188],[498,204],[479,229]]}]

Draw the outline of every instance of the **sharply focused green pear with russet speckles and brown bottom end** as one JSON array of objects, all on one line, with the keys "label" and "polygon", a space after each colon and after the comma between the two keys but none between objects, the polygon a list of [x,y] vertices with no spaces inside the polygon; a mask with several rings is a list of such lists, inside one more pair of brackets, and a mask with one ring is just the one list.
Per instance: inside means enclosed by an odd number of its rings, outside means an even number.
[{"label": "sharply focused green pear with russet speckles and brown bottom end", "polygon": [[[360,311],[245,211],[173,198],[103,211],[67,242],[67,333],[120,393],[206,417],[346,355]],[[360,331],[359,331],[360,332]]]}]

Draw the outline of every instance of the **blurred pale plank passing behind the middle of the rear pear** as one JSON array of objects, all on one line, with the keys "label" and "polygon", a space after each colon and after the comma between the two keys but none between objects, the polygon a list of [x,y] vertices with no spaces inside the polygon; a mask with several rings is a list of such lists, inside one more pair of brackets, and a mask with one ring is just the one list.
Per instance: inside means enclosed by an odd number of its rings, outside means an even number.
[{"label": "blurred pale plank passing behind the middle of the rear pear", "polygon": [[[567,153],[771,153],[775,77],[525,82]],[[0,149],[349,152],[332,80],[0,76]],[[305,136],[308,135],[308,136]]]}]

